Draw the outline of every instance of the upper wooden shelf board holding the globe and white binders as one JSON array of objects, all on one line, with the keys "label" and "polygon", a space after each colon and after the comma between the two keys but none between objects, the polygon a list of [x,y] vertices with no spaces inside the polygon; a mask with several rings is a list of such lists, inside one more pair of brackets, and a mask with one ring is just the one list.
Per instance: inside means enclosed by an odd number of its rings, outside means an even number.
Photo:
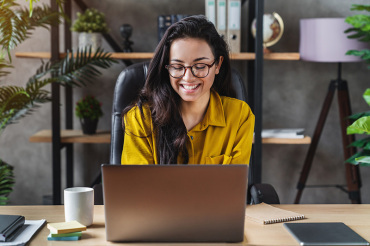
[{"label": "upper wooden shelf board holding the globe and white binders", "polygon": [[[150,52],[135,52],[135,53],[110,53],[112,58],[114,59],[127,59],[127,60],[135,60],[135,59],[152,59],[153,53]],[[60,58],[65,57],[65,53],[60,53]],[[19,58],[40,58],[40,59],[50,59],[50,52],[16,52],[16,57]],[[231,53],[230,58],[232,60],[254,60],[255,53]],[[267,53],[264,55],[265,60],[299,60],[300,56],[299,53]]]}]

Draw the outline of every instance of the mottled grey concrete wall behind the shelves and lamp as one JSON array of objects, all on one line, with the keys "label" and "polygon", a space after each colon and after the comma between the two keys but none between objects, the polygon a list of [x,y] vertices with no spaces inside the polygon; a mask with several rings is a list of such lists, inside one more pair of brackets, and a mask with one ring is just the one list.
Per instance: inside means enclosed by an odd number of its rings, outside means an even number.
[{"label": "mottled grey concrete wall behind the shelves and lamp", "polygon": [[[19,2],[22,3],[20,0]],[[43,0],[41,2],[48,3]],[[160,14],[203,14],[204,0],[90,0],[89,6],[106,13],[111,35],[122,43],[119,27],[124,23],[133,26],[134,50],[152,52],[157,44],[157,16]],[[356,3],[366,3],[358,0]],[[191,4],[190,4],[191,3]],[[350,11],[348,0],[265,0],[265,12],[276,11],[284,19],[285,32],[273,51],[297,52],[299,45],[299,19],[311,17],[346,17]],[[27,5],[27,3],[24,3]],[[78,9],[73,5],[74,13]],[[247,4],[243,6],[242,51],[246,49]],[[62,37],[61,37],[62,40]],[[77,35],[73,34],[73,45]],[[103,43],[107,51],[111,48]],[[63,45],[61,44],[61,50]],[[16,51],[49,51],[50,36],[47,30],[36,30],[32,38],[20,45]],[[13,52],[14,54],[14,52]],[[41,64],[38,59],[14,57],[12,74],[3,78],[3,84],[24,85]],[[245,62],[233,62],[246,75]],[[114,65],[94,84],[74,90],[74,102],[86,94],[93,94],[103,102],[104,116],[99,129],[110,128],[110,112],[115,80],[124,68],[123,63]],[[336,64],[309,63],[303,61],[266,61],[263,79],[263,127],[303,127],[312,135],[327,86],[336,78]],[[353,112],[368,110],[361,98],[369,87],[370,70],[365,64],[344,64],[343,77],[348,80]],[[63,98],[64,93],[61,93]],[[62,99],[61,110],[64,99]],[[62,127],[64,127],[62,116]],[[80,129],[74,116],[74,127]],[[11,204],[42,204],[43,196],[52,192],[51,144],[30,143],[28,138],[41,129],[51,128],[51,104],[44,104],[32,115],[9,126],[0,136],[0,157],[15,167],[16,185],[11,194]],[[263,182],[277,189],[282,203],[293,203],[296,183],[307,153],[307,145],[264,145]],[[75,144],[75,185],[88,186],[99,173],[101,163],[109,161],[108,144]],[[64,151],[62,151],[64,171]],[[363,202],[369,200],[369,168],[362,168]],[[318,146],[314,164],[308,179],[309,184],[345,184],[339,116],[336,98],[329,113],[323,135]],[[64,181],[63,181],[64,187]],[[347,195],[335,188],[306,189],[302,203],[349,203]]]}]

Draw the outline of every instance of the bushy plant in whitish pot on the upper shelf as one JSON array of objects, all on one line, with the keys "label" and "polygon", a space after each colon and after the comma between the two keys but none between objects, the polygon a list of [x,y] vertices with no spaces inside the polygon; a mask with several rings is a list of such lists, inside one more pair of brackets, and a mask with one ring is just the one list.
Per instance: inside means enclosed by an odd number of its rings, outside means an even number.
[{"label": "bushy plant in whitish pot on the upper shelf", "polygon": [[102,33],[109,31],[104,14],[94,8],[86,9],[83,14],[77,12],[77,19],[71,30],[79,33],[80,48],[91,45],[93,51],[101,46]]}]

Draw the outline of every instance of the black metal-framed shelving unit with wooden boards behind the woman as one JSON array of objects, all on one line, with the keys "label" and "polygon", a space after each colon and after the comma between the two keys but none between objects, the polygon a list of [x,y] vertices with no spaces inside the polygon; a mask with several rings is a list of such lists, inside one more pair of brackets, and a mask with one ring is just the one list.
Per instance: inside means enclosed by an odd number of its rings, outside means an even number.
[{"label": "black metal-framed shelving unit with wooden boards behind the woman", "polygon": [[[64,3],[65,13],[71,16],[72,0],[66,0]],[[87,6],[82,0],[73,0],[82,11]],[[251,165],[253,172],[250,172],[249,183],[261,183],[262,176],[262,144],[309,144],[310,137],[303,139],[262,139],[262,82],[263,82],[263,60],[299,60],[299,53],[263,53],[262,45],[262,17],[264,13],[264,0],[242,0],[242,3],[248,2],[248,30],[251,33],[250,23],[256,17],[256,36],[255,38],[248,35],[247,52],[231,54],[232,60],[247,61],[247,81],[248,81],[248,104],[251,106],[255,116],[255,137],[252,149]],[[50,0],[51,8],[56,10],[57,5],[54,0]],[[68,25],[64,27],[64,42],[65,50],[71,50],[71,33]],[[113,39],[105,34],[104,38],[115,51],[111,53],[112,58],[121,59],[126,66],[132,64],[131,60],[151,59],[153,53],[123,53],[122,49]],[[65,57],[66,53],[59,53],[59,27],[51,28],[51,52],[17,52],[17,57],[22,58],[41,58],[58,60]],[[56,83],[52,85],[52,129],[42,130],[30,137],[30,142],[51,142],[52,143],[52,162],[53,162],[53,203],[61,204],[61,153],[60,150],[66,147],[66,184],[67,187],[73,186],[73,144],[74,143],[110,143],[110,131],[98,132],[95,135],[84,135],[81,131],[73,130],[73,104],[72,104],[72,88],[65,89],[66,101],[66,129],[61,130],[60,127],[60,86]]]}]

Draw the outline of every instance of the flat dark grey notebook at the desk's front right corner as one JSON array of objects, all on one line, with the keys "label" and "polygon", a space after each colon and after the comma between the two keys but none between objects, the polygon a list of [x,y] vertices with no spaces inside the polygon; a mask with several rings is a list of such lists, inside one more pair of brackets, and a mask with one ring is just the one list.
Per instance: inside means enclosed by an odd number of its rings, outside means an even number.
[{"label": "flat dark grey notebook at the desk's front right corner", "polygon": [[341,222],[284,223],[300,245],[369,245],[355,231]]}]

